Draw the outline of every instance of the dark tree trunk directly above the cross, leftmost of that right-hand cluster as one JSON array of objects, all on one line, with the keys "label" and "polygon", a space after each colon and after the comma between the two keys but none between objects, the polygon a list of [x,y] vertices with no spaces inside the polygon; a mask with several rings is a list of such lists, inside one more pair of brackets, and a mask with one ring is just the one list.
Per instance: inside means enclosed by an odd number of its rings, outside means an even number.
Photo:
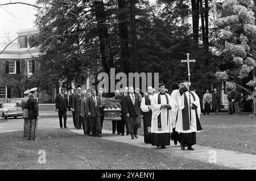
[{"label": "dark tree trunk directly above the cross, leftmost of that right-hand cluster", "polygon": [[199,0],[191,0],[192,5],[192,23],[193,23],[193,40],[198,46],[199,43]]}]

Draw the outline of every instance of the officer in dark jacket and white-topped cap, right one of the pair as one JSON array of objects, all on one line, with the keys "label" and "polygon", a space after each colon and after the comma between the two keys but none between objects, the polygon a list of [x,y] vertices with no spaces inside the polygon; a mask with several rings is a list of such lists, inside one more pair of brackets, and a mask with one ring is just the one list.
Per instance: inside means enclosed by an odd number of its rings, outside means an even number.
[{"label": "officer in dark jacket and white-topped cap, right one of the pair", "polygon": [[39,108],[38,108],[38,100],[36,100],[36,93],[38,88],[34,87],[30,89],[31,95],[27,100],[28,106],[28,133],[27,140],[38,140],[36,138],[36,133],[38,131],[38,116],[39,116]]}]

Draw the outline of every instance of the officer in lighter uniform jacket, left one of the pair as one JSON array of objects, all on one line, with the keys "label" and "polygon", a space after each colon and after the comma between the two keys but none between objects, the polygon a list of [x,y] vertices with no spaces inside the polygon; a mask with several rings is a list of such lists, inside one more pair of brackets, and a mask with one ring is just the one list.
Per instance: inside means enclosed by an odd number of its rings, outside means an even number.
[{"label": "officer in lighter uniform jacket, left one of the pair", "polygon": [[22,99],[21,105],[22,105],[22,110],[23,114],[22,117],[24,119],[24,124],[23,124],[23,131],[24,131],[24,137],[27,137],[27,130],[28,130],[28,107],[27,107],[27,100],[30,96],[30,90],[26,90],[23,92],[24,98]]}]

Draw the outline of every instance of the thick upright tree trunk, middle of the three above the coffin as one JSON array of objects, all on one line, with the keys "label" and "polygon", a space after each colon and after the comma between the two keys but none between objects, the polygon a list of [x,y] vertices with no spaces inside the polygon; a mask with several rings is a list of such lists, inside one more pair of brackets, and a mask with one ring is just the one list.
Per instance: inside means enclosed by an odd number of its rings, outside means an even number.
[{"label": "thick upright tree trunk, middle of the three above the coffin", "polygon": [[118,0],[119,9],[119,36],[120,36],[120,47],[121,47],[121,68],[123,73],[129,73],[129,33],[128,33],[128,22],[127,22],[127,2],[126,0]]}]

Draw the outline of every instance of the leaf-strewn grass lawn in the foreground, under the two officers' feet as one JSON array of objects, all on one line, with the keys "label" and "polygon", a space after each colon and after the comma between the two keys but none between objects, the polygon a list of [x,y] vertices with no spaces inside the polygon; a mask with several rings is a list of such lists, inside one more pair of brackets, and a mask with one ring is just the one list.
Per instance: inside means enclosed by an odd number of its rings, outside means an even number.
[{"label": "leaf-strewn grass lawn in the foreground, under the two officers' feet", "polygon": [[[227,169],[67,129],[40,129],[39,141],[22,134],[0,134],[0,169]],[[46,150],[46,164],[38,163],[39,150]]]}]

